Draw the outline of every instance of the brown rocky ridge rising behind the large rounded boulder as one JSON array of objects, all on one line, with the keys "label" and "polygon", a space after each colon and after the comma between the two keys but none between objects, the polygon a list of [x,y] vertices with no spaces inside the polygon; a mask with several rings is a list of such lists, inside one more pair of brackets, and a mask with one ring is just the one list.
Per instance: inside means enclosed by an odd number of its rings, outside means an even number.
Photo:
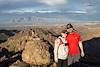
[{"label": "brown rocky ridge rising behind the large rounded boulder", "polygon": [[8,38],[8,40],[1,45],[8,49],[8,51],[18,52],[24,50],[26,43],[30,40],[34,40],[34,38],[37,38],[37,40],[47,40],[50,44],[54,45],[55,37],[53,36],[53,33],[42,28],[21,31],[15,34],[15,36]]}]

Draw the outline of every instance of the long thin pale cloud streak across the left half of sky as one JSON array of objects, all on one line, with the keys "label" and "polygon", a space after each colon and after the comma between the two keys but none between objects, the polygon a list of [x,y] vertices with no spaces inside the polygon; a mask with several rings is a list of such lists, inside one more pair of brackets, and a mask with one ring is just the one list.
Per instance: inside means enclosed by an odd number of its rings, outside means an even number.
[{"label": "long thin pale cloud streak across the left half of sky", "polygon": [[54,12],[60,12],[58,10],[50,10],[50,9],[33,9],[33,8],[19,8],[15,10],[7,10],[7,11],[2,11],[2,13],[17,13],[17,14],[23,14],[23,13],[54,13]]}]

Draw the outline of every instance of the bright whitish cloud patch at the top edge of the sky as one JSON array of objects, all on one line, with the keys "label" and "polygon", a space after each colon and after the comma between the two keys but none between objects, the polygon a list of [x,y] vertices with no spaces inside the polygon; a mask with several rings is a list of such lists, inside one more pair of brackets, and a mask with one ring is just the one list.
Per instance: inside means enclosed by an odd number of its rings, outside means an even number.
[{"label": "bright whitish cloud patch at the top edge of the sky", "polygon": [[68,0],[41,0],[41,3],[45,3],[47,5],[55,6],[55,5],[64,5]]}]

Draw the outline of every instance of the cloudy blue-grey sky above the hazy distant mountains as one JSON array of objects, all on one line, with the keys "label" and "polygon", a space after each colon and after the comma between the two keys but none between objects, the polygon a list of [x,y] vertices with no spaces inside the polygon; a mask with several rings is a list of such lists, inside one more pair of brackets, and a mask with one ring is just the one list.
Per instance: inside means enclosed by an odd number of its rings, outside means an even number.
[{"label": "cloudy blue-grey sky above the hazy distant mountains", "polygon": [[99,6],[100,0],[0,0],[0,22],[37,14],[73,21],[99,21]]}]

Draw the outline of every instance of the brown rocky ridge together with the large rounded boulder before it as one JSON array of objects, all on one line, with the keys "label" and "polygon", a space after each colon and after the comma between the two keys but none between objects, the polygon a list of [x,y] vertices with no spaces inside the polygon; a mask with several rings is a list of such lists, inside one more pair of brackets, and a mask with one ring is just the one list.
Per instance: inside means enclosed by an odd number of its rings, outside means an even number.
[{"label": "brown rocky ridge together with the large rounded boulder before it", "polygon": [[53,61],[54,33],[42,28],[27,29],[10,37],[1,46],[9,52],[22,51],[22,60],[32,65],[49,65]]}]

